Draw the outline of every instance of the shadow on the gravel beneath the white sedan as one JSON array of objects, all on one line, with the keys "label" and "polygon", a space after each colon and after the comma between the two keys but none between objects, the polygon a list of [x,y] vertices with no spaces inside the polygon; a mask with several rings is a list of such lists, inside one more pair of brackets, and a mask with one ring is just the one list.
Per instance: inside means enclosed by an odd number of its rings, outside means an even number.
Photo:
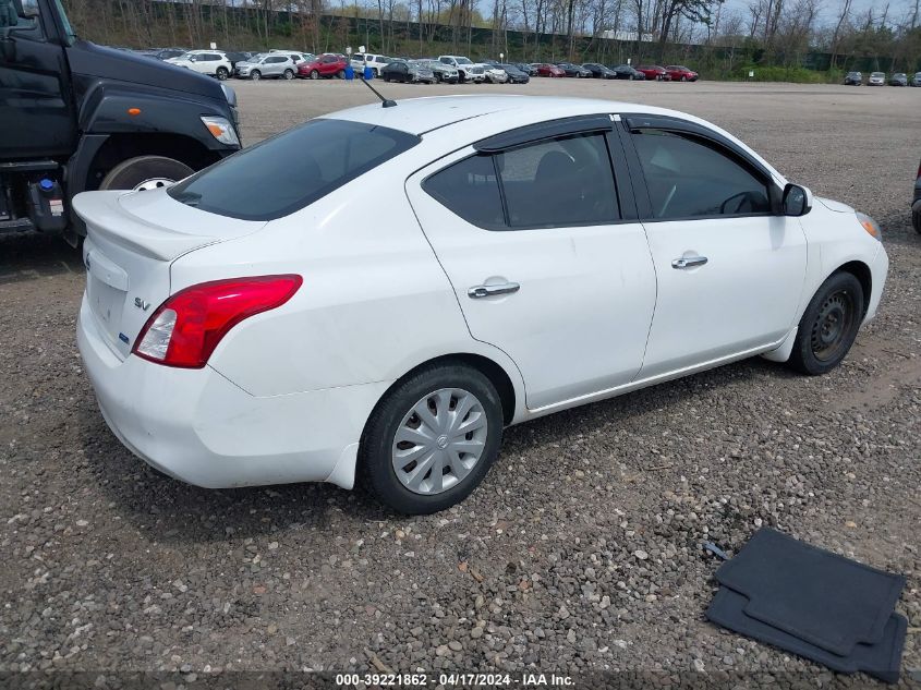
[{"label": "shadow on the gravel beneath the white sedan", "polygon": [[[760,359],[748,360],[511,427],[506,432],[506,452],[499,456],[483,489],[495,491],[502,457],[508,457],[506,453],[524,453],[550,439],[566,443],[570,436],[592,434],[610,423],[627,422],[647,413],[667,413],[669,408],[702,391],[732,385],[750,386],[759,378],[793,377],[796,375],[781,365]],[[300,529],[340,533],[349,525],[396,517],[361,488],[347,492],[330,484],[237,489],[190,486],[154,470],[123,448],[95,405],[84,408],[80,428],[86,468],[113,504],[111,508],[150,540],[160,543],[181,546],[268,534],[283,536]]]}]

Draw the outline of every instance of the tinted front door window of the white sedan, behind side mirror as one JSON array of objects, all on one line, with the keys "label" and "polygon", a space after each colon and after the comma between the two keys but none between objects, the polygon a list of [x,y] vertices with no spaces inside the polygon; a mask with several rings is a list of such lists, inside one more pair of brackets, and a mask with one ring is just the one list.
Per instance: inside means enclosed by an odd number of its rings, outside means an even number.
[{"label": "tinted front door window of the white sedan, behind side mirror", "polygon": [[653,218],[693,218],[771,210],[767,185],[729,152],[659,130],[633,134]]}]

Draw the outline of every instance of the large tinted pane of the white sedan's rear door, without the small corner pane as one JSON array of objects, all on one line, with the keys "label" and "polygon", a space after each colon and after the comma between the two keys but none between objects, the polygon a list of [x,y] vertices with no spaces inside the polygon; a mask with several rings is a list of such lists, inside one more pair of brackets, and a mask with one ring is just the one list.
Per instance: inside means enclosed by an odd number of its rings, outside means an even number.
[{"label": "large tinted pane of the white sedan's rear door, without the small corner pane", "polygon": [[509,226],[567,226],[618,218],[603,134],[538,142],[497,154]]}]

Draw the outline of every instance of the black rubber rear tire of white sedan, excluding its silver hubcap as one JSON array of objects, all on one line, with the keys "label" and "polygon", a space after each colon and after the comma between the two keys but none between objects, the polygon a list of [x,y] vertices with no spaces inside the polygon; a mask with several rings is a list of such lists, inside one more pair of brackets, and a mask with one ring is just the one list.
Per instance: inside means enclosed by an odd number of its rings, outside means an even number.
[{"label": "black rubber rear tire of white sedan, excluding its silver hubcap", "polygon": [[[482,455],[469,474],[441,493],[420,494],[410,491],[397,477],[391,452],[393,439],[403,417],[416,402],[443,388],[462,389],[477,399],[486,416],[486,438]],[[489,379],[477,370],[462,364],[433,364],[398,383],[377,403],[362,434],[359,481],[397,512],[438,512],[462,501],[480,485],[499,453],[501,440],[502,405]]]}]

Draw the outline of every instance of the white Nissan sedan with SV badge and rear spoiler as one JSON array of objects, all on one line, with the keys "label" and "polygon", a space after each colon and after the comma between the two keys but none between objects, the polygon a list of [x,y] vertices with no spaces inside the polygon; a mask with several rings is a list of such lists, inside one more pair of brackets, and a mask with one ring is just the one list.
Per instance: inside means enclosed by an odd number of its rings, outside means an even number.
[{"label": "white Nissan sedan with SV badge and rear spoiler", "polygon": [[201,486],[463,499],[502,427],[762,354],[822,374],[876,312],[876,223],[737,138],[606,100],[344,110],[170,189],[89,192],[102,415]]}]

